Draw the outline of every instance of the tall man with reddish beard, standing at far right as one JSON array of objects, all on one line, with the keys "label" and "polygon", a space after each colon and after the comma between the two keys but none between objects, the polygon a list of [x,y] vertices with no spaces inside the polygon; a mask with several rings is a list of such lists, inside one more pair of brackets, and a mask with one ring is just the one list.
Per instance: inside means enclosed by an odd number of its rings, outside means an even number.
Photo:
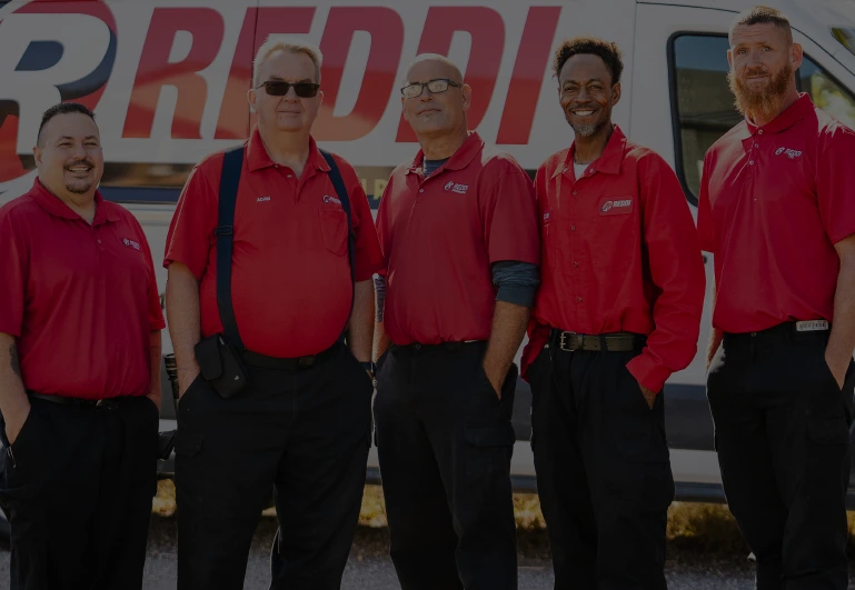
[{"label": "tall man with reddish beard, standing at far right", "polygon": [[698,234],[715,256],[707,397],[757,588],[845,589],[855,371],[855,133],[799,94],[784,14],[730,28],[745,120],[707,152]]}]

